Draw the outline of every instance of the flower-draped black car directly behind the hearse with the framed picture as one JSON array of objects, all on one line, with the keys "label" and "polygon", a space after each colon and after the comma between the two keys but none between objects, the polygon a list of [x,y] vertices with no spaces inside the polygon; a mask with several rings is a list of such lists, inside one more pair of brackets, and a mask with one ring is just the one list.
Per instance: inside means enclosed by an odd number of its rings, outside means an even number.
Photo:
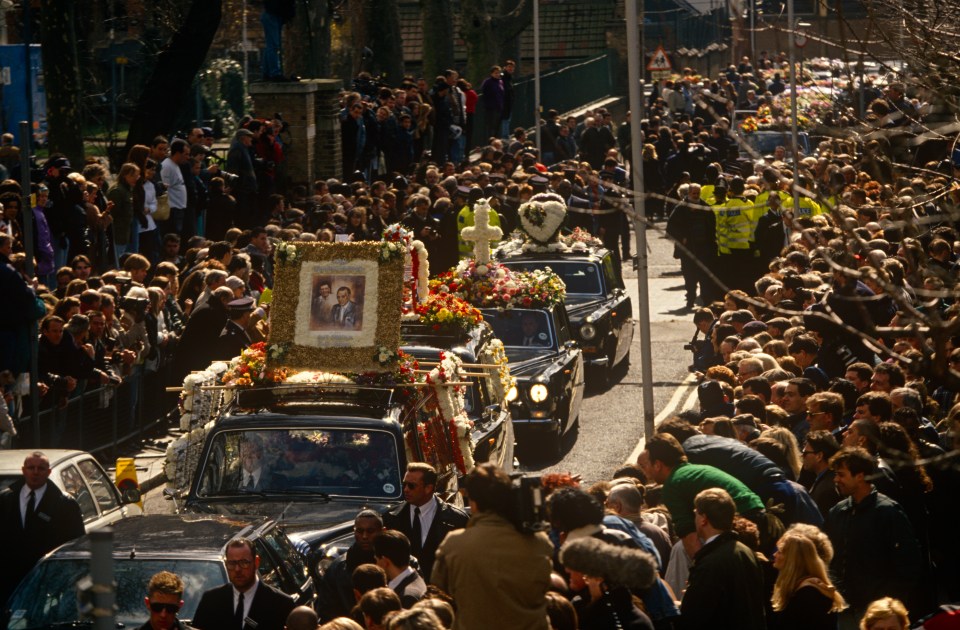
[{"label": "flower-draped black car directly behind the hearse with the framed picture", "polygon": [[[467,364],[483,363],[487,349],[496,339],[490,325],[481,322],[466,334],[439,334],[428,326],[404,322],[400,328],[404,340],[401,348],[417,359],[437,360],[441,352],[453,352]],[[471,376],[473,383],[464,392],[464,407],[473,421],[473,459],[477,463],[492,462],[506,470],[513,470],[514,434],[509,404],[498,394],[496,371],[471,369],[470,373],[486,372],[486,376]]]}]

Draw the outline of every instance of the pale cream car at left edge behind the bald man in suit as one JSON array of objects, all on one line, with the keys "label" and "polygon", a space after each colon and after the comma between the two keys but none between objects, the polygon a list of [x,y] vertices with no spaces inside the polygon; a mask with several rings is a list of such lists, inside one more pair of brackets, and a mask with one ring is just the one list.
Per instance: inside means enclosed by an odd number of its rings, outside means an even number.
[{"label": "pale cream car at left edge behind the bald man in suit", "polygon": [[[0,450],[0,492],[22,476],[23,462],[32,450]],[[121,493],[93,455],[84,451],[49,449],[49,481],[80,505],[88,532],[116,523],[120,519],[143,514],[137,505],[139,490]]]}]

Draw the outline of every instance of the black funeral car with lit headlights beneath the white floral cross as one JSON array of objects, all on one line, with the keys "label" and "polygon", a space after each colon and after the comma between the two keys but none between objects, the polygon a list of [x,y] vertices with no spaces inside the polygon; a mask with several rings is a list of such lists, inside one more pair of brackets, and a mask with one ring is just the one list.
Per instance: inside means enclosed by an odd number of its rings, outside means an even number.
[{"label": "black funeral car with lit headlights beneath the white floral cross", "polygon": [[559,457],[563,436],[580,418],[583,353],[563,304],[480,309],[503,341],[516,387],[507,394],[518,443],[538,444]]}]

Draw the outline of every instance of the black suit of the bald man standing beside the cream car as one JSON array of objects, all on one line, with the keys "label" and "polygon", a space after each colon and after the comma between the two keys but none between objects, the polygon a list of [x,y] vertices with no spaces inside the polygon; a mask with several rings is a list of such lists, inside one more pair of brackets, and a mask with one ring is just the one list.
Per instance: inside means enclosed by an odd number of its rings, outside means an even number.
[{"label": "black suit of the bald man standing beside the cream car", "polygon": [[21,477],[0,495],[0,524],[7,541],[6,570],[0,572],[0,604],[48,551],[83,536],[83,514],[77,502],[47,482],[34,516],[24,528],[20,513]]}]

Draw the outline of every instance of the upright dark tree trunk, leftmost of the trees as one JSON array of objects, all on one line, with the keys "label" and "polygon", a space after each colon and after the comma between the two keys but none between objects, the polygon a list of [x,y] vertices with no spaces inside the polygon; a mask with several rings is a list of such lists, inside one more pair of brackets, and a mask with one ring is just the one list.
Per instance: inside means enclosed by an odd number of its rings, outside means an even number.
[{"label": "upright dark tree trunk, leftmost of the trees", "polygon": [[63,153],[80,168],[84,151],[74,18],[74,3],[41,0],[40,43],[50,153]]}]

